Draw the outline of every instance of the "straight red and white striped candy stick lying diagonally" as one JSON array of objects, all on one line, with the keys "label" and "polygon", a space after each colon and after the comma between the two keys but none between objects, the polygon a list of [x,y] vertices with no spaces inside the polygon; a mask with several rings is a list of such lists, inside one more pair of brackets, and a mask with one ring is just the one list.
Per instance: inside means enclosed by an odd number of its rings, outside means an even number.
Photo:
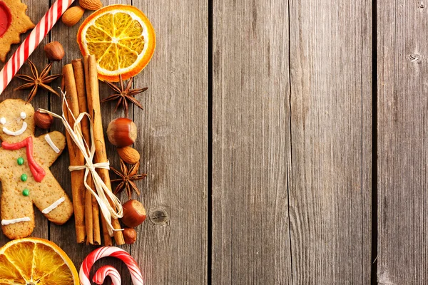
[{"label": "straight red and white striped candy stick lying diagonally", "polygon": [[0,95],[74,0],[57,0],[0,71]]}]

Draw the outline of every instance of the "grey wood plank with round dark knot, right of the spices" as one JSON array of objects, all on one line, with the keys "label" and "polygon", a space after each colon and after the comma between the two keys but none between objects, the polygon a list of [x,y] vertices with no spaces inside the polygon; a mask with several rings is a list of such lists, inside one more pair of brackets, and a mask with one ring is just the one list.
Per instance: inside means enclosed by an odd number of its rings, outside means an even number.
[{"label": "grey wood plank with round dark knot, right of the spices", "polygon": [[208,1],[133,5],[151,20],[157,47],[135,81],[149,88],[138,95],[145,110],[134,108],[134,147],[151,217],[131,252],[147,284],[207,284]]}]

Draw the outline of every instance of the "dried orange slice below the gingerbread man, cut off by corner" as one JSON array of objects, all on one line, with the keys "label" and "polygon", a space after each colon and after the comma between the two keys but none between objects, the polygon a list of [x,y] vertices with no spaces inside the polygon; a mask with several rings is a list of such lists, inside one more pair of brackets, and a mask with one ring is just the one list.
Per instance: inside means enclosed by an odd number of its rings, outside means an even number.
[{"label": "dried orange slice below the gingerbread man, cut off by corner", "polygon": [[34,237],[0,249],[0,284],[78,285],[73,262],[56,244]]}]

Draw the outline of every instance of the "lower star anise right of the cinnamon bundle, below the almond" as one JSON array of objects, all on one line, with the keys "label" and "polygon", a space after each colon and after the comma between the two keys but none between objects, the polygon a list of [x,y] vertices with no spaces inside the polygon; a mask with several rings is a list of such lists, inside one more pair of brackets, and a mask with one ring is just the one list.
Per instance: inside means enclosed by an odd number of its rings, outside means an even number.
[{"label": "lower star anise right of the cinnamon bundle, below the almond", "polygon": [[126,190],[129,199],[131,199],[132,192],[135,191],[137,195],[140,195],[140,190],[134,181],[143,180],[146,178],[146,174],[137,174],[138,168],[140,168],[140,162],[137,162],[135,165],[132,165],[131,168],[128,169],[125,162],[121,159],[121,171],[116,170],[113,167],[110,167],[113,172],[118,175],[118,179],[113,179],[111,182],[120,182],[119,185],[114,190],[114,194],[118,194],[123,190]]}]

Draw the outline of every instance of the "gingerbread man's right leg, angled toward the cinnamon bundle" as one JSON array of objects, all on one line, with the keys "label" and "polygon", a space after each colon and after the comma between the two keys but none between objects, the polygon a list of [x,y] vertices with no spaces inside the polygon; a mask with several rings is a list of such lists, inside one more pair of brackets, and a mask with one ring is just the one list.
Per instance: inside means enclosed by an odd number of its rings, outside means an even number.
[{"label": "gingerbread man's right leg, angled toward the cinnamon bundle", "polygon": [[67,222],[73,214],[73,204],[49,170],[44,180],[31,190],[31,199],[44,216],[55,224]]}]

